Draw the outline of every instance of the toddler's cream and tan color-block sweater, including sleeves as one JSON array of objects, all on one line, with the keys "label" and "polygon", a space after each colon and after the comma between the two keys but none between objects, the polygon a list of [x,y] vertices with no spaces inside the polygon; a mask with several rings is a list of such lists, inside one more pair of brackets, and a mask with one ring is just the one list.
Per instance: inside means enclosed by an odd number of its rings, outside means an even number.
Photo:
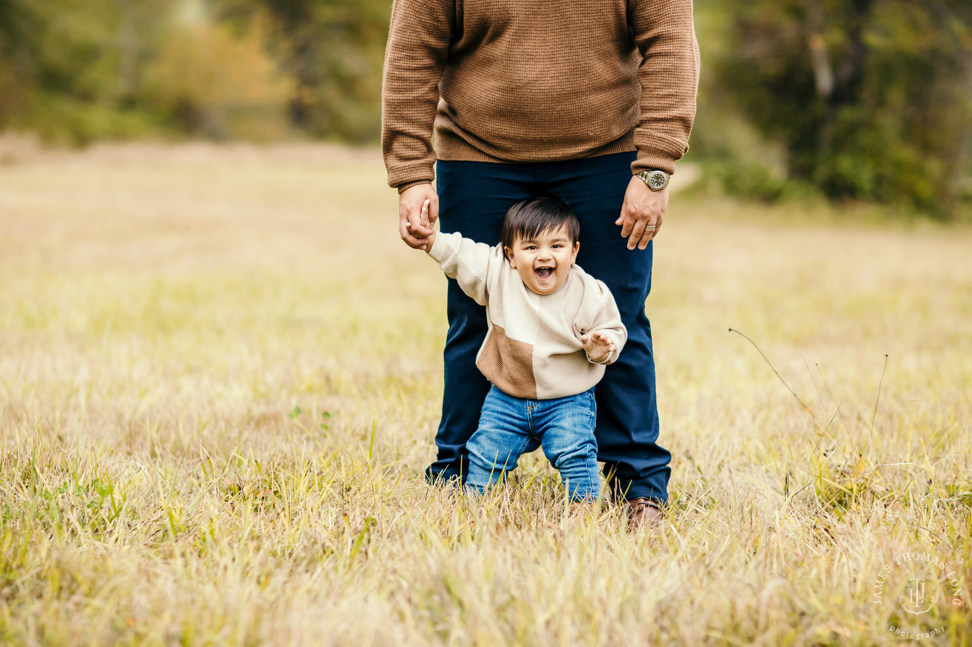
[{"label": "toddler's cream and tan color-block sweater, including sleeves", "polygon": [[[608,287],[578,265],[560,288],[538,294],[509,266],[500,245],[436,232],[429,255],[486,306],[489,330],[476,366],[514,397],[549,399],[587,391],[601,381],[605,366],[617,359],[628,339]],[[580,335],[596,331],[605,333],[616,349],[602,362],[591,361],[580,343]]]}]

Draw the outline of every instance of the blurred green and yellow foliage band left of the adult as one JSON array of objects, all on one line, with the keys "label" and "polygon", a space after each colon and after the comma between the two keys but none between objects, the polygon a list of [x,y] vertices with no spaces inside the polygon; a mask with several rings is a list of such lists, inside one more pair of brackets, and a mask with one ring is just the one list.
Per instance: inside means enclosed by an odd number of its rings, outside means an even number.
[{"label": "blurred green and yellow foliage band left of the adult", "polygon": [[388,0],[0,0],[0,128],[378,137]]}]

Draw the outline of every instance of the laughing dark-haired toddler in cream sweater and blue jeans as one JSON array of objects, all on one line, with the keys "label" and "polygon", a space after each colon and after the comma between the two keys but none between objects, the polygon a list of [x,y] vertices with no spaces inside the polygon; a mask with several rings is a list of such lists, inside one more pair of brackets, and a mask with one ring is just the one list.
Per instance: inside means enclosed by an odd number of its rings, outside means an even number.
[{"label": "laughing dark-haired toddler in cream sweater and blue jeans", "polygon": [[[429,202],[422,224],[429,227]],[[628,337],[614,297],[574,264],[580,223],[564,200],[528,198],[490,247],[434,232],[425,250],[486,307],[476,366],[492,383],[469,438],[467,487],[482,493],[538,445],[573,501],[597,498],[594,387]]]}]

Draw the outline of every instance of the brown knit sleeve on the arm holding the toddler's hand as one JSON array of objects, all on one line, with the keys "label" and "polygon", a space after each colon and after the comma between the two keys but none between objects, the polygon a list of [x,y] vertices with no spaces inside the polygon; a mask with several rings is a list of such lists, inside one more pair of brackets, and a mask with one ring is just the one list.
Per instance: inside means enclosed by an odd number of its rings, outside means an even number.
[{"label": "brown knit sleeve on the arm holding the toddler's hand", "polygon": [[455,0],[395,0],[381,91],[381,151],[389,187],[432,182],[432,130]]}]

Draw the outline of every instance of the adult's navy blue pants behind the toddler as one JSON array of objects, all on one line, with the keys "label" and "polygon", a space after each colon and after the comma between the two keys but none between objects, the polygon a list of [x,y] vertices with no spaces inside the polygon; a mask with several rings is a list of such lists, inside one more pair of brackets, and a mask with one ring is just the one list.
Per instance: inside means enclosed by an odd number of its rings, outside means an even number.
[{"label": "adult's navy blue pants behind the toddler", "polygon": [[[566,199],[580,221],[577,264],[614,294],[628,341],[595,390],[598,460],[605,463],[615,496],[647,496],[665,502],[672,455],[658,446],[655,362],[644,300],[651,288],[651,252],[628,250],[614,224],[631,181],[635,153],[558,162],[506,164],[439,160],[436,165],[439,227],[495,245],[506,211],[538,190]],[[449,279],[449,333],[445,341],[442,422],[435,435],[438,457],[426,476],[465,480],[466,443],[476,430],[490,383],[476,368],[486,336],[486,309]],[[528,448],[536,450],[537,446]]]}]

